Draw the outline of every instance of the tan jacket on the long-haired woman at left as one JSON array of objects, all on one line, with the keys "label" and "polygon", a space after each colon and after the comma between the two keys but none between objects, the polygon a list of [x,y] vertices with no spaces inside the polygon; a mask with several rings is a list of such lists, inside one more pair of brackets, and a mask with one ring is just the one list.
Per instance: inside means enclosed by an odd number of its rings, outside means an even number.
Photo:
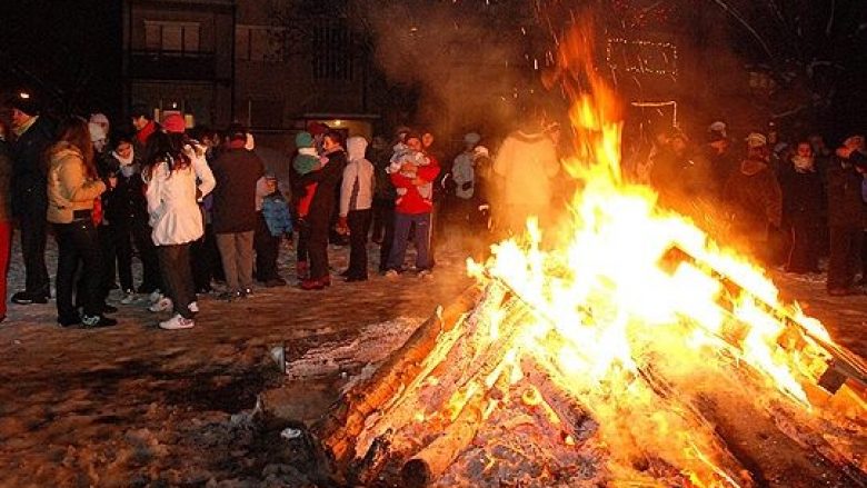
[{"label": "tan jacket on the long-haired woman at left", "polygon": [[89,179],[81,151],[66,141],[48,153],[48,211],[52,223],[69,223],[74,210],[92,210],[93,200],[106,191],[106,183]]}]

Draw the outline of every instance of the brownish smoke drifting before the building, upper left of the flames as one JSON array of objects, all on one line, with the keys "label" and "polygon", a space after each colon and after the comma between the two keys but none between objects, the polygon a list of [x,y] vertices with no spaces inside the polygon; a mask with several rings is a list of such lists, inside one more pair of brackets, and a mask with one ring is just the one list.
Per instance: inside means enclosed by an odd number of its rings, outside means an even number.
[{"label": "brownish smoke drifting before the building, upper left of the flames", "polygon": [[353,8],[387,83],[418,90],[416,120],[397,123],[477,130],[509,120],[516,98],[529,92],[532,70],[515,62],[521,59],[520,22],[508,19],[506,30],[506,7],[355,0]]}]

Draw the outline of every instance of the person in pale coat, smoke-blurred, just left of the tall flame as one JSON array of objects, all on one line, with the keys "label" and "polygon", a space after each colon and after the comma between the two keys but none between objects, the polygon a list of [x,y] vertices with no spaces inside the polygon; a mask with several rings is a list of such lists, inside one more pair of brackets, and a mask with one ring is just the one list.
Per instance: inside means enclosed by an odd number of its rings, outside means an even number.
[{"label": "person in pale coat, smoke-blurred, just left of the tall flame", "polygon": [[560,162],[554,141],[538,121],[506,138],[494,161],[494,172],[504,182],[498,217],[504,230],[522,233],[532,216],[546,228],[552,213],[551,179],[560,172]]}]

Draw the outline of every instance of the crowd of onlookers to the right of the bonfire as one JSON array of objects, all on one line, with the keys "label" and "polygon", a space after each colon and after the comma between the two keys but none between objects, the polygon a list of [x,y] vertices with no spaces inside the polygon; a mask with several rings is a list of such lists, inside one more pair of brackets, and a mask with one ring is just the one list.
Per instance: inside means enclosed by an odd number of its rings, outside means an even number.
[{"label": "crowd of onlookers to the right of the bonfire", "polygon": [[867,162],[860,133],[836,149],[818,133],[784,140],[771,127],[733,141],[722,121],[704,145],[678,130],[660,131],[632,177],[652,186],[660,203],[692,217],[724,242],[766,266],[818,273],[827,257],[827,291],[867,283]]}]

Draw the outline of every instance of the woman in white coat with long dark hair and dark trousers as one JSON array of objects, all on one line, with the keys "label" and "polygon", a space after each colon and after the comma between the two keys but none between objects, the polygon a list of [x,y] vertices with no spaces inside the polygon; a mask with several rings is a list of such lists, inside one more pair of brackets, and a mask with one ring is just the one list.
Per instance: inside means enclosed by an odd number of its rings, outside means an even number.
[{"label": "woman in white coat with long dark hair and dark trousers", "polygon": [[190,243],[205,233],[198,200],[213,189],[215,180],[203,150],[187,141],[183,126],[163,123],[163,128],[168,133],[155,133],[153,156],[142,171],[148,185],[151,237],[157,246],[165,292],[175,308],[175,316],[160,322],[160,328],[189,329],[195,326],[196,310],[196,307],[190,309],[196,300]]}]

